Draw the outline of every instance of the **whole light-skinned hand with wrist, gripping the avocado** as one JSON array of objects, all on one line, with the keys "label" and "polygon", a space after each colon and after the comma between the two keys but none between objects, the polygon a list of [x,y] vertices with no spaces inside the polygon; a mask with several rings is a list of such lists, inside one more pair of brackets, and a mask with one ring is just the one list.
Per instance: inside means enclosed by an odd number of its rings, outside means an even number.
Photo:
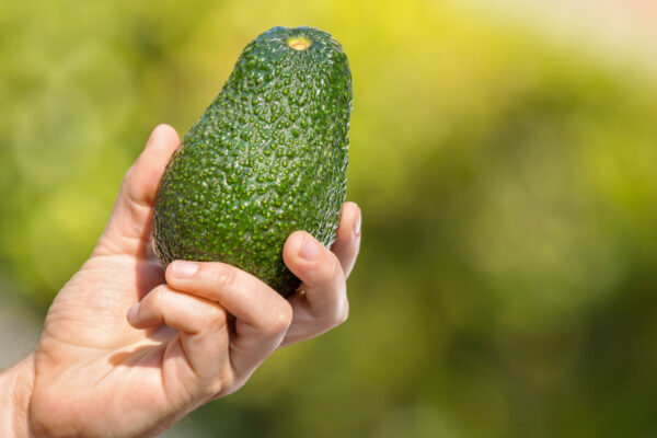
[{"label": "whole light-skinned hand with wrist, gripping the avocado", "polygon": [[347,318],[345,280],[360,244],[353,203],[331,251],[303,231],[286,241],[285,263],[303,281],[289,300],[222,263],[161,266],[152,205],[178,145],[172,127],[153,130],[93,254],[55,298],[36,349],[0,374],[1,437],[155,436],[240,389],[280,346]]}]

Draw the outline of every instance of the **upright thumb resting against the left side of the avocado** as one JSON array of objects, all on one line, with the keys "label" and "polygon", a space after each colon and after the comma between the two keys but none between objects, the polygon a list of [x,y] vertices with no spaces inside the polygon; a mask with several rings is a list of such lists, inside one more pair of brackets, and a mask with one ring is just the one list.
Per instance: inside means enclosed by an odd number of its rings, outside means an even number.
[{"label": "upright thumb resting against the left side of the avocado", "polygon": [[158,125],[137,161],[126,172],[110,222],[94,254],[146,256],[152,207],[160,178],[181,139],[169,125]]}]

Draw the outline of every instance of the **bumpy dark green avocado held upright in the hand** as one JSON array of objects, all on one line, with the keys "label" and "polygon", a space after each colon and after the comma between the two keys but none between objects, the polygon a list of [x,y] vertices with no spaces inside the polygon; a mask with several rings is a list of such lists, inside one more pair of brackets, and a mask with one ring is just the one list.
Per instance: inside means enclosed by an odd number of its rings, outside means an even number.
[{"label": "bumpy dark green avocado held upright in the hand", "polygon": [[[297,37],[311,45],[290,47]],[[292,293],[289,234],[326,246],[336,237],[351,99],[347,57],[327,33],[274,27],[251,42],[162,176],[152,222],[162,263],[223,262]]]}]

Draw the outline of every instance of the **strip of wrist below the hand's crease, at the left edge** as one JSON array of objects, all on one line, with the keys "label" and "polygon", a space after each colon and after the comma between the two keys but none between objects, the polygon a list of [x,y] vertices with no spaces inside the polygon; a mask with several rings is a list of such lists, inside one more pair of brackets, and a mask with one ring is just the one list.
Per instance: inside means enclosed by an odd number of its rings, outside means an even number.
[{"label": "strip of wrist below the hand's crease, at the left edge", "polygon": [[31,436],[28,406],[33,385],[33,355],[0,373],[0,437]]}]

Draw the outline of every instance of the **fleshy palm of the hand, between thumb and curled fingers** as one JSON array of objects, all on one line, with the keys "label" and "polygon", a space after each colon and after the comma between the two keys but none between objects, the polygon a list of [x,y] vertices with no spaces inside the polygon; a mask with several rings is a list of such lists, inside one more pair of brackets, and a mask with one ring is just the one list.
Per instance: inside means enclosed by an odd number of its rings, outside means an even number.
[{"label": "fleshy palm of the hand, between thumb and curled fingers", "polygon": [[[169,401],[183,403],[191,383],[183,379],[192,370],[181,360],[181,334],[166,326],[135,330],[126,320],[127,310],[162,283],[157,261],[129,254],[92,257],[48,312],[35,355],[39,384],[33,406],[57,411],[62,423],[78,424],[79,430],[105,425],[100,429],[118,436],[152,429],[145,411],[170,417],[177,406]],[[73,390],[51,406],[48,393],[64,385]]]}]

